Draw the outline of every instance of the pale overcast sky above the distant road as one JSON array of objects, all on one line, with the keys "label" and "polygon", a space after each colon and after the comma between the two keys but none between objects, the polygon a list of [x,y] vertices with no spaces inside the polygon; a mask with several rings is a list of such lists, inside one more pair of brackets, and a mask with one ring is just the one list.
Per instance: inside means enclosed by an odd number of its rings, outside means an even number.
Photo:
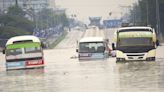
[{"label": "pale overcast sky above the distant road", "polygon": [[89,16],[99,17],[103,19],[109,17],[109,12],[113,12],[111,18],[119,18],[121,11],[126,9],[120,6],[132,5],[137,0],[55,0],[56,5],[67,9],[70,16],[76,14],[79,20],[88,21]]}]

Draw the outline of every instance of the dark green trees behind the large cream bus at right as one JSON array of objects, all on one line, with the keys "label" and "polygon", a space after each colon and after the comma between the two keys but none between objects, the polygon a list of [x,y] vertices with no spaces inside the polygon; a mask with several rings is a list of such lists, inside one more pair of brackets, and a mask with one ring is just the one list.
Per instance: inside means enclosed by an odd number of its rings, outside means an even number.
[{"label": "dark green trees behind the large cream bus at right", "polygon": [[[164,34],[164,0],[158,0],[159,2],[159,14],[160,14],[160,32]],[[133,7],[132,11],[139,16],[138,25],[151,25],[156,28],[157,16],[156,16],[156,0],[140,0],[137,7],[139,11],[137,12],[136,7]],[[131,21],[133,19],[133,13],[131,12]],[[148,20],[147,20],[148,19]]]}]

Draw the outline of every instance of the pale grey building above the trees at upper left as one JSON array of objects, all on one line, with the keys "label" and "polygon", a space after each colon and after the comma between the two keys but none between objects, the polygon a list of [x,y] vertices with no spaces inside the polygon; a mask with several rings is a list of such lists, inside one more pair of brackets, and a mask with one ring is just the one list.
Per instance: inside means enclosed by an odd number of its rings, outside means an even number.
[{"label": "pale grey building above the trees at upper left", "polygon": [[13,5],[20,6],[23,10],[33,9],[35,12],[49,6],[49,0],[0,0],[0,12],[5,12]]}]

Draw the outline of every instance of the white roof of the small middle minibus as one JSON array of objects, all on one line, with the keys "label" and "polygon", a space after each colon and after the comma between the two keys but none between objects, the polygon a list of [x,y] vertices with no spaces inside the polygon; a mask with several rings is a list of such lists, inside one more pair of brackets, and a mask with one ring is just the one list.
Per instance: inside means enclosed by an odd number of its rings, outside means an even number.
[{"label": "white roof of the small middle minibus", "polygon": [[84,37],[80,42],[103,42],[103,37]]}]

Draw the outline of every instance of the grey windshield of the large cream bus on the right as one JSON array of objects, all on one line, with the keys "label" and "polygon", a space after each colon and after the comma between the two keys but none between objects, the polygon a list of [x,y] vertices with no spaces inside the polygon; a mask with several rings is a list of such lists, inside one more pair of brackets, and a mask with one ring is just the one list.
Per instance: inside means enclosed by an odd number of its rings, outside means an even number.
[{"label": "grey windshield of the large cream bus on the right", "polygon": [[151,38],[121,38],[118,42],[119,46],[152,46]]}]

